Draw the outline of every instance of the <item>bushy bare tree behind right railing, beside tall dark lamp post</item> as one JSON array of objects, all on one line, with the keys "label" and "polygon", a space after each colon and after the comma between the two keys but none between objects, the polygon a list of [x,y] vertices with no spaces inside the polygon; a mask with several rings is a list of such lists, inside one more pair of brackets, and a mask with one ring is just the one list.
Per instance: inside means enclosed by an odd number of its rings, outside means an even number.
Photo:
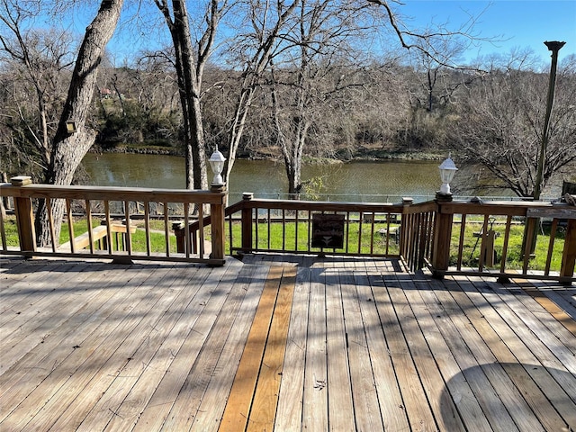
[{"label": "bushy bare tree behind right railing, beside tall dark lamp post", "polygon": [[[499,179],[495,187],[528,198],[534,195],[548,76],[514,66],[494,67],[469,88],[452,123],[450,140],[467,160]],[[576,75],[564,67],[557,78],[544,186],[576,160],[575,100]]]}]

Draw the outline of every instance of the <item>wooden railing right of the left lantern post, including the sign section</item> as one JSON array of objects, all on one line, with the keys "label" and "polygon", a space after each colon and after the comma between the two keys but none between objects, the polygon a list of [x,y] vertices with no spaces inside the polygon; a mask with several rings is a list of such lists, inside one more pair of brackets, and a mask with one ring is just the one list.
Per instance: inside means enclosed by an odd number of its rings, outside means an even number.
[{"label": "wooden railing right of the left lantern post, including the sign section", "polygon": [[[273,213],[276,211],[277,213]],[[290,211],[292,215],[286,216],[285,212]],[[237,202],[226,209],[225,215],[229,220],[229,253],[234,251],[249,253],[255,251],[275,251],[275,252],[289,252],[289,253],[318,253],[318,250],[311,250],[311,248],[303,248],[298,250],[298,247],[286,247],[283,244],[280,247],[272,247],[270,245],[270,226],[271,224],[281,224],[283,226],[282,235],[286,227],[290,224],[300,222],[310,222],[310,216],[299,216],[301,213],[310,214],[310,212],[340,212],[347,213],[347,223],[354,222],[354,218],[350,213],[357,213],[356,222],[359,225],[359,231],[371,230],[371,237],[374,238],[374,215],[383,214],[389,215],[389,221],[386,228],[378,229],[378,232],[383,232],[387,236],[386,241],[392,234],[395,238],[399,239],[399,256],[406,262],[410,270],[416,271],[425,266],[428,266],[433,275],[437,277],[444,277],[444,275],[458,274],[458,273],[471,273],[471,274],[490,274],[500,278],[512,277],[518,275],[517,269],[509,269],[507,267],[507,259],[509,257],[509,238],[510,229],[514,225],[512,220],[514,218],[527,218],[530,223],[534,217],[552,217],[554,218],[554,232],[550,236],[550,246],[546,257],[546,266],[543,275],[537,275],[535,272],[529,270],[530,257],[527,256],[526,251],[523,252],[523,265],[520,269],[520,275],[536,278],[551,278],[562,281],[572,282],[574,274],[574,259],[576,255],[576,246],[573,239],[573,231],[576,224],[576,209],[572,206],[563,204],[551,204],[548,202],[463,202],[463,201],[443,201],[435,200],[431,202],[412,203],[410,199],[400,204],[392,203],[369,203],[369,202],[301,202],[292,200],[266,200],[266,199],[253,199],[251,194],[247,194],[244,200]],[[239,214],[238,214],[239,213]],[[368,217],[362,216],[368,214]],[[237,215],[234,218],[234,215]],[[390,227],[390,220],[394,220],[396,215],[401,218],[401,225],[398,229]],[[491,255],[494,254],[495,239],[494,231],[488,229],[490,220],[497,218],[504,218],[500,221],[500,226],[504,227],[502,235],[503,245],[500,247],[500,261],[494,259]],[[567,219],[567,235],[564,240],[562,268],[556,270],[554,275],[551,273],[550,267],[554,252],[554,240],[556,236],[556,229],[561,226],[558,220]],[[477,221],[476,221],[477,220]],[[240,223],[240,236],[239,244],[234,244],[232,238],[232,223]],[[356,223],[354,222],[354,223]],[[383,222],[383,220],[380,220]],[[210,217],[203,220],[203,226],[208,226],[211,223]],[[523,223],[519,221],[518,223]],[[470,253],[464,245],[464,236],[469,230],[468,227],[480,224],[482,229],[478,236],[477,250],[473,250],[472,254],[479,255],[478,268],[463,268],[464,253]],[[190,225],[191,232],[195,232],[199,227],[199,222],[193,222]],[[263,231],[262,228],[266,227]],[[366,228],[367,227],[367,228]],[[265,229],[266,229],[265,228]],[[535,227],[533,227],[534,229]],[[260,237],[260,238],[258,238]],[[266,237],[268,244],[259,246],[262,243],[262,237]],[[193,237],[194,241],[195,236]],[[360,240],[359,240],[360,241]],[[455,249],[451,244],[455,242]],[[482,241],[482,243],[480,243]],[[500,241],[500,240],[499,240]],[[482,251],[480,253],[479,251]],[[359,247],[355,250],[346,249],[344,252],[331,251],[335,255],[365,255],[359,252]],[[367,255],[379,256],[380,254],[374,253],[373,247],[370,247],[370,253]],[[386,248],[384,256],[392,256]],[[468,264],[470,266],[470,264]],[[495,270],[492,267],[497,266]]]}]

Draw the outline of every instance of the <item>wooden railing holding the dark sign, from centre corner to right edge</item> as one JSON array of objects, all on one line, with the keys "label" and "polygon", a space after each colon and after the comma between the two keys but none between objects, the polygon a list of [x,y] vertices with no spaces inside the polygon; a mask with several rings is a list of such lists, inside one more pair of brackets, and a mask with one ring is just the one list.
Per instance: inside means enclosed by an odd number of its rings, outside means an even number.
[{"label": "wooden railing holding the dark sign, from centre corner to right edge", "polygon": [[[342,215],[341,247],[313,247],[314,215]],[[576,208],[545,202],[412,203],[299,202],[253,199],[226,209],[226,253],[279,252],[370,257],[401,257],[411,271],[428,267],[433,275],[522,275],[564,282],[574,280]],[[202,226],[211,223],[210,216]],[[200,222],[189,226],[193,251]],[[536,229],[536,267],[531,240]],[[176,229],[184,251],[184,224]],[[539,262],[543,262],[542,259]]]}]

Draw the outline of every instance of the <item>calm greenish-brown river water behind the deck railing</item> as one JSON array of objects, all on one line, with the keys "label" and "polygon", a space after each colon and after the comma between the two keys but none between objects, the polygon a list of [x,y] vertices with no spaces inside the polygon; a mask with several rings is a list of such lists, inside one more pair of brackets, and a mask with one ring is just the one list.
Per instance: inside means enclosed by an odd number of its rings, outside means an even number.
[{"label": "calm greenish-brown river water behind the deck railing", "polygon": [[[417,201],[433,197],[439,189],[439,162],[351,162],[302,167],[303,180],[320,177],[322,187],[314,193],[322,201],[398,202],[401,196]],[[84,159],[94,185],[184,188],[184,157],[106,153]],[[460,173],[459,173],[460,174]],[[255,197],[284,197],[288,190],[284,166],[271,161],[238,160],[229,181],[229,202],[241,193]],[[302,199],[311,199],[302,196]]]}]

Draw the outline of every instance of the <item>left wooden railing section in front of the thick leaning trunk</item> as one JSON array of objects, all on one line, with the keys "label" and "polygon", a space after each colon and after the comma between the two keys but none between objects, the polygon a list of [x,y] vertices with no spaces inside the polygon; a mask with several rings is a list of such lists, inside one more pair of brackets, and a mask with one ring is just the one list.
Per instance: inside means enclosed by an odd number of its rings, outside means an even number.
[{"label": "left wooden railing section in front of the thick leaning trunk", "polygon": [[[193,261],[206,263],[211,265],[221,265],[224,263],[224,203],[226,202],[227,193],[223,189],[213,189],[211,191],[195,191],[187,189],[151,189],[151,188],[127,188],[127,187],[98,187],[98,186],[62,186],[62,185],[52,185],[52,184],[31,184],[30,177],[15,177],[13,179],[13,184],[0,184],[0,195],[1,196],[13,196],[15,202],[14,213],[16,214],[16,220],[19,230],[20,239],[20,249],[19,250],[9,250],[5,245],[4,232],[3,232],[3,253],[10,254],[21,254],[26,257],[32,256],[46,256],[55,255],[62,257],[76,257],[81,255],[82,257],[110,257],[116,261],[122,260],[121,257],[127,258],[124,261],[130,261],[131,259],[148,259],[148,260],[179,260],[179,261]],[[46,208],[48,209],[49,216],[49,226],[50,226],[50,242],[51,242],[51,252],[47,252],[45,249],[39,250],[36,247],[36,234],[34,232],[34,215],[32,208],[34,207],[34,200],[45,200]],[[76,242],[74,238],[73,224],[68,224],[68,234],[70,238],[70,250],[58,250],[58,238],[54,229],[54,216],[52,214],[53,202],[56,200],[64,200],[66,207],[67,220],[72,220],[72,205],[73,201],[81,202],[85,206],[86,220],[87,220],[87,244],[89,250],[76,250]],[[110,227],[113,224],[110,203],[111,202],[121,202],[122,211],[124,211],[124,220],[126,223],[125,230],[125,241],[126,249],[125,251],[112,251],[112,247],[109,247],[108,251],[100,252],[95,251],[93,247],[93,242],[97,240],[97,236],[94,236],[94,229],[92,228],[92,203],[93,202],[103,202],[105,208],[105,224],[108,229],[106,229],[106,237],[111,238],[112,229]],[[132,236],[134,234],[135,226],[131,224],[134,223],[130,221],[130,202],[143,202],[145,205],[144,214],[144,230],[145,230],[145,243],[146,250],[132,251]],[[148,205],[153,203],[161,203],[164,208],[164,221],[165,229],[164,236],[166,238],[166,249],[164,252],[152,251],[150,242],[150,217],[148,211]],[[174,256],[170,252],[170,228],[168,226],[168,206],[167,203],[175,203],[182,205],[184,207],[184,219],[187,219],[188,209],[191,206],[195,206],[202,211],[204,205],[209,205],[211,208],[211,215],[213,217],[220,217],[222,223],[212,223],[211,224],[211,254],[206,257],[203,253],[203,248],[201,251],[194,256],[189,252],[185,253],[185,256]],[[202,214],[202,212],[201,212]],[[4,230],[4,223],[2,224],[2,229]],[[100,234],[100,233],[98,233]],[[203,232],[201,233],[203,241]],[[81,244],[84,245],[86,241],[82,241]],[[82,247],[79,247],[82,249]],[[189,250],[189,248],[188,248]]]}]

